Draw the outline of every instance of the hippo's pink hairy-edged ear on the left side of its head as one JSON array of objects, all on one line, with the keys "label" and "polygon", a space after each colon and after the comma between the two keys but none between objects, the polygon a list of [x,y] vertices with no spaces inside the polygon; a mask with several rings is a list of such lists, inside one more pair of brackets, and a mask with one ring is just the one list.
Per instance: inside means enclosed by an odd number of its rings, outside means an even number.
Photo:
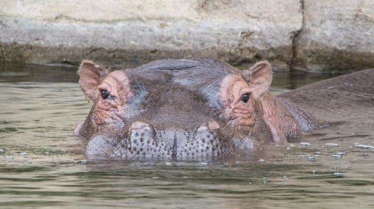
[{"label": "hippo's pink hairy-edged ear on the left side of its head", "polygon": [[101,66],[91,62],[83,61],[77,72],[79,75],[79,86],[83,93],[91,100],[97,97],[97,86],[108,74],[108,71]]}]

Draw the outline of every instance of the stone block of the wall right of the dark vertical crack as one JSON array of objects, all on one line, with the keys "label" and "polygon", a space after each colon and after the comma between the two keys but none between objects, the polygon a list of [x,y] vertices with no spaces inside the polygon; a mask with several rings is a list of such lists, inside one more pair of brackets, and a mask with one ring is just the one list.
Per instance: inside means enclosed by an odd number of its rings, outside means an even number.
[{"label": "stone block of the wall right of the dark vertical crack", "polygon": [[373,0],[304,0],[293,68],[309,72],[374,67]]}]

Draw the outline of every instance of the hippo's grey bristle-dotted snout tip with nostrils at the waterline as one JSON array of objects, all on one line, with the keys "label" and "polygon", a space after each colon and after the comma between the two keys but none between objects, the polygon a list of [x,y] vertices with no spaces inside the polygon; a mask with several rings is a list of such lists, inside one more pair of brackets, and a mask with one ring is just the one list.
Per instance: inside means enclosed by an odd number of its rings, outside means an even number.
[{"label": "hippo's grey bristle-dotted snout tip with nostrils at the waterline", "polygon": [[135,121],[122,134],[93,136],[87,154],[123,157],[199,157],[233,152],[233,144],[221,134],[218,123],[208,120],[192,130],[157,130],[145,121]]}]

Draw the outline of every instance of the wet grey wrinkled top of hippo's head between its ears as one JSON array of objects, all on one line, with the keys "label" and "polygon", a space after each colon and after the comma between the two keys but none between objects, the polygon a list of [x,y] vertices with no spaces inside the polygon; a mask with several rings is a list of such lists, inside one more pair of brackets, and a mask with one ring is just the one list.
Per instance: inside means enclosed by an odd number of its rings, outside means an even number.
[{"label": "wet grey wrinkled top of hippo's head between its ears", "polygon": [[204,87],[215,89],[224,76],[240,74],[229,64],[211,58],[158,60],[125,72],[133,85],[141,79],[147,86],[177,84],[192,91]]}]

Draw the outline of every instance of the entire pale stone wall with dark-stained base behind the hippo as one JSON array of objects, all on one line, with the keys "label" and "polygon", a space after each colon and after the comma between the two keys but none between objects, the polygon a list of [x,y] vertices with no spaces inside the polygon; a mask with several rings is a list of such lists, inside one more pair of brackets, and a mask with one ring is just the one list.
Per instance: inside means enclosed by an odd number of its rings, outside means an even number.
[{"label": "entire pale stone wall with dark-stained base behind the hippo", "polygon": [[267,59],[276,70],[374,67],[374,46],[369,46],[374,41],[373,1],[335,4],[332,0],[0,0],[0,60],[78,64],[91,59],[129,67],[162,58],[209,56],[230,64]]}]

